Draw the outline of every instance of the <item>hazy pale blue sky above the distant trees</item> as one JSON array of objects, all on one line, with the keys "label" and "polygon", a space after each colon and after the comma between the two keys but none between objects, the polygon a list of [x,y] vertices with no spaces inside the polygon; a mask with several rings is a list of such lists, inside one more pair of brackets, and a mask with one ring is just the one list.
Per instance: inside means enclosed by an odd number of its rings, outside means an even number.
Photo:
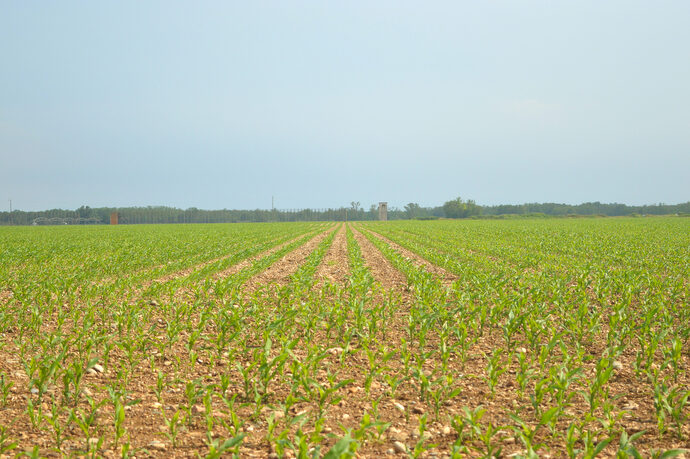
[{"label": "hazy pale blue sky above the distant trees", "polygon": [[690,2],[0,0],[0,209],[690,200]]}]

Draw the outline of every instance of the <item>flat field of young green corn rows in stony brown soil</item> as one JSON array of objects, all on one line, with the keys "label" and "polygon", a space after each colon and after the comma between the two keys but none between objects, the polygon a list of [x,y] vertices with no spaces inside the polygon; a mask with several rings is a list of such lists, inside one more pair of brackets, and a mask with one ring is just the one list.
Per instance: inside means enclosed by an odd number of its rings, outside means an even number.
[{"label": "flat field of young green corn rows in stony brown soil", "polygon": [[681,457],[690,219],[0,228],[0,457]]}]

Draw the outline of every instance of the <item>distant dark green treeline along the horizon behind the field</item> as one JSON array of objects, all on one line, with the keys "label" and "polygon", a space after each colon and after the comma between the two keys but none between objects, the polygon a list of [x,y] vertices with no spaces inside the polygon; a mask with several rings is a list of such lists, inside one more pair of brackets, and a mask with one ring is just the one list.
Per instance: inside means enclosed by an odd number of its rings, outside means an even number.
[{"label": "distant dark green treeline along the horizon behind the field", "polygon": [[[120,224],[153,223],[235,223],[235,222],[291,222],[291,221],[344,221],[378,220],[376,205],[366,210],[358,202],[349,207],[329,209],[255,209],[204,210],[191,207],[178,209],[166,206],[98,207],[81,206],[75,210],[51,209],[37,212],[14,210],[0,212],[0,225],[69,225],[108,224],[110,215],[117,212]],[[461,198],[446,201],[442,206],[422,207],[409,203],[403,209],[388,209],[389,220],[436,218],[519,218],[563,216],[625,216],[625,215],[690,215],[690,201],[682,204],[652,204],[628,206],[586,202],[578,205],[557,203],[502,204],[481,206]]]}]

